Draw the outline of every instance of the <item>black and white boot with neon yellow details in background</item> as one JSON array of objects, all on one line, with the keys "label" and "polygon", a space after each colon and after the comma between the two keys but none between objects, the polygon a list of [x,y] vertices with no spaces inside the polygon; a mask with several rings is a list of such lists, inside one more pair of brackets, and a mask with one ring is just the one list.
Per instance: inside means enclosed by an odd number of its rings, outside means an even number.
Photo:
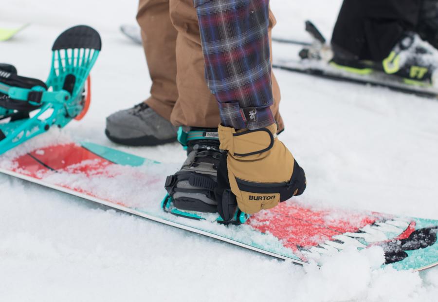
[{"label": "black and white boot with neon yellow details in background", "polygon": [[404,33],[389,56],[380,62],[351,58],[336,45],[333,45],[333,51],[330,65],[347,72],[370,75],[378,71],[398,76],[406,84],[438,85],[438,51],[414,32]]}]

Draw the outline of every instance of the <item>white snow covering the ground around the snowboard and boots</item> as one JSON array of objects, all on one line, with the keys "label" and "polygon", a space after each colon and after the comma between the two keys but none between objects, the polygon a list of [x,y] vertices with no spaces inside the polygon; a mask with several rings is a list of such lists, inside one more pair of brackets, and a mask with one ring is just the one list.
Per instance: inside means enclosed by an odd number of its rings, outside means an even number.
[{"label": "white snow covering the ground around the snowboard and boots", "polygon": [[[274,35],[306,39],[303,24],[311,19],[329,38],[340,4],[273,0]],[[122,148],[103,133],[107,115],[148,95],[143,50],[118,31],[135,22],[136,6],[134,0],[9,1],[0,19],[32,25],[0,44],[1,60],[44,79],[54,38],[78,23],[95,27],[103,50],[92,71],[91,108],[64,134],[178,167],[185,154],[177,143]],[[280,139],[308,179],[300,201],[438,218],[437,101],[283,71],[276,76],[287,126]],[[438,294],[438,268],[381,269],[377,247],[303,268],[4,175],[0,191],[0,301],[424,302]]]}]

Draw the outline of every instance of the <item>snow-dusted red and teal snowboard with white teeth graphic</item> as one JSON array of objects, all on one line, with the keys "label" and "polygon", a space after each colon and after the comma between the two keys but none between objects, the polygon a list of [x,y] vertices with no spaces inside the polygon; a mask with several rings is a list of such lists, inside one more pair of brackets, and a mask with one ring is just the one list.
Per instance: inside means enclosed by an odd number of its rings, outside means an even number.
[{"label": "snow-dusted red and teal snowboard with white teeth graphic", "polygon": [[373,245],[383,247],[383,265],[398,270],[438,264],[438,220],[310,206],[293,199],[238,226],[218,223],[213,213],[188,219],[164,211],[161,202],[165,178],[179,166],[91,142],[43,136],[1,155],[0,172],[294,264],[320,264],[323,255]]}]

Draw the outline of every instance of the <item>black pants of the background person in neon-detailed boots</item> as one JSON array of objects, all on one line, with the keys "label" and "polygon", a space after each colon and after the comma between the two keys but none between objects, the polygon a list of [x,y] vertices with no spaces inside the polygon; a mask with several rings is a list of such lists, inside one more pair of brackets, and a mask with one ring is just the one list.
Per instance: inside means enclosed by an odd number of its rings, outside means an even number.
[{"label": "black pants of the background person in neon-detailed boots", "polygon": [[333,30],[335,55],[381,61],[406,30],[415,30],[421,0],[344,0]]}]

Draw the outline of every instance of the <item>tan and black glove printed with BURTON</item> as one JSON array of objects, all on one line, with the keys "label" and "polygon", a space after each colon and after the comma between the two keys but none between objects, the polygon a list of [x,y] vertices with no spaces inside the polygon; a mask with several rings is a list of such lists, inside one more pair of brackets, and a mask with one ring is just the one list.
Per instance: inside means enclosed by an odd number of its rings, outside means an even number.
[{"label": "tan and black glove printed with BURTON", "polygon": [[304,170],[276,132],[276,124],[238,132],[219,125],[219,148],[225,152],[219,163],[215,195],[224,221],[233,217],[237,206],[253,214],[274,208],[306,189]]}]

